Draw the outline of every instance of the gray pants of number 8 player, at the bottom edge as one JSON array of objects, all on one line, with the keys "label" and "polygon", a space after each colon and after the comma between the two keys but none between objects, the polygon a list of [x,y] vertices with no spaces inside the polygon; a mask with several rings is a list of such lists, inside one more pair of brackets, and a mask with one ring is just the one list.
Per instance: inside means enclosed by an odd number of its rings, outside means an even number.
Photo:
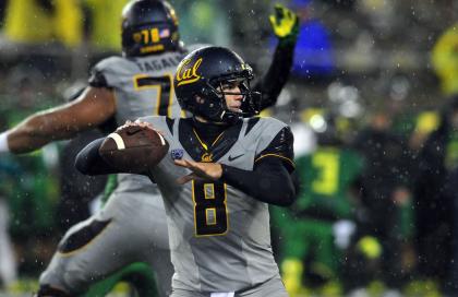
[{"label": "gray pants of number 8 player, at the bottom edge", "polygon": [[[268,280],[252,288],[237,292],[234,297],[288,297],[280,276]],[[196,293],[183,289],[173,289],[170,297],[210,297],[209,293]]]}]

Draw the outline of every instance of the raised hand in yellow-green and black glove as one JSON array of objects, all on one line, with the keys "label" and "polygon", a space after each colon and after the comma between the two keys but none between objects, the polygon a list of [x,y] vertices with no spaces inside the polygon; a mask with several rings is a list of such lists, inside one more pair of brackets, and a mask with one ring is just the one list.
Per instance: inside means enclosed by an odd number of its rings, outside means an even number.
[{"label": "raised hand in yellow-green and black glove", "polygon": [[294,43],[299,35],[299,16],[288,8],[276,4],[269,16],[272,28],[280,43]]}]

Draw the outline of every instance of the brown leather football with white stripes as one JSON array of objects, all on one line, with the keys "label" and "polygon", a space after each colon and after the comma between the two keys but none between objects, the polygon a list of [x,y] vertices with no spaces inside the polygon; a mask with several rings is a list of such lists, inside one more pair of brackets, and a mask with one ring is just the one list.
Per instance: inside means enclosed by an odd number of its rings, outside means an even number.
[{"label": "brown leather football with white stripes", "polygon": [[169,144],[157,131],[140,126],[124,126],[109,134],[99,154],[123,173],[143,173],[156,166],[167,154]]}]

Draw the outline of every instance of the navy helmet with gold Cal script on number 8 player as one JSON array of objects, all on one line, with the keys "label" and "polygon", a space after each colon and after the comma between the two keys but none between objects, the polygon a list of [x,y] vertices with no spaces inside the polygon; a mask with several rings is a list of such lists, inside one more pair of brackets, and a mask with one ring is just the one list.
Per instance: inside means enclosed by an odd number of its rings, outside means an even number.
[{"label": "navy helmet with gold Cal script on number 8 player", "polygon": [[[258,114],[261,94],[252,92],[252,68],[230,49],[204,47],[189,54],[178,66],[173,80],[177,99],[184,110],[213,122],[233,123]],[[241,112],[226,105],[224,85],[237,83],[241,95]],[[233,94],[233,93],[231,93]],[[200,98],[200,99],[197,99]]]}]

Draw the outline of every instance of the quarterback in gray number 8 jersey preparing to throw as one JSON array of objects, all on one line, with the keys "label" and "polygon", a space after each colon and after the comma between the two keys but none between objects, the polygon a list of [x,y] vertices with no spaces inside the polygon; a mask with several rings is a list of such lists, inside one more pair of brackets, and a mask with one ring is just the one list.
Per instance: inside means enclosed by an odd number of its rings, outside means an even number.
[{"label": "quarterback in gray number 8 jersey preparing to throw", "polygon": [[[122,127],[154,127],[169,143],[169,154],[144,175],[157,182],[168,215],[172,297],[288,296],[270,247],[268,204],[296,198],[293,136],[281,121],[252,117],[260,95],[252,79],[227,48],[194,50],[173,81],[192,117]],[[104,140],[79,154],[82,173],[119,171],[99,154]]]}]

